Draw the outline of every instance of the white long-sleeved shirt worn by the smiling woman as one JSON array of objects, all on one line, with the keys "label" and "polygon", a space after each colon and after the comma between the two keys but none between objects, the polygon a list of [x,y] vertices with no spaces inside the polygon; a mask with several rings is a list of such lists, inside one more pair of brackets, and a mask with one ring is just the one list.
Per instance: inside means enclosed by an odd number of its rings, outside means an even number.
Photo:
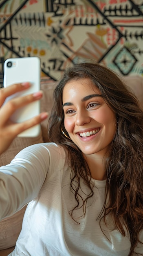
[{"label": "white long-sleeved shirt worn by the smiling woman", "polygon": [[[28,204],[22,231],[11,256],[128,256],[130,238],[111,231],[96,220],[104,202],[106,181],[93,180],[94,195],[82,209],[74,211],[77,224],[69,215],[75,206],[70,191],[70,168],[62,147],[54,143],[36,144],[22,150],[11,164],[0,168],[0,219]],[[88,188],[81,180],[83,198]],[[79,219],[78,219],[79,218]],[[141,233],[143,241],[143,232]],[[143,245],[136,248],[143,253]]]}]

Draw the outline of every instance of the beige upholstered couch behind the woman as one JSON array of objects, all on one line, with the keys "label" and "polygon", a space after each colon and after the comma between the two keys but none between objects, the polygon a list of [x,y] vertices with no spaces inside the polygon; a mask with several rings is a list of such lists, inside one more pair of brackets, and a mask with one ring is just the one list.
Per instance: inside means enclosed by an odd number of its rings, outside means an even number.
[{"label": "beige upholstered couch behind the woman", "polygon": [[[136,94],[141,108],[143,108],[143,77],[126,76],[123,79],[129,88]],[[41,90],[44,92],[44,96],[41,100],[41,111],[50,112],[53,105],[53,88],[56,84],[57,82],[47,81],[46,78],[41,80]],[[42,122],[41,133],[36,138],[15,138],[9,149],[0,156],[0,166],[8,164],[22,148],[31,144],[47,142],[46,126],[47,120]],[[0,256],[6,256],[13,250],[21,230],[25,208],[26,207],[10,218],[6,218],[0,222]]]}]

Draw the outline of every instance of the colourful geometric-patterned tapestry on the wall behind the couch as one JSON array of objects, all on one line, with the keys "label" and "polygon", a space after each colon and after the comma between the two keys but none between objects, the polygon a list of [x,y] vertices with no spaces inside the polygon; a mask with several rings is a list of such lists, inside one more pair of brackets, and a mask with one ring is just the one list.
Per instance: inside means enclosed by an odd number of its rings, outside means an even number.
[{"label": "colourful geometric-patterned tapestry on the wall behind the couch", "polygon": [[55,81],[79,59],[143,75],[143,0],[1,0],[1,84],[4,61],[24,56]]}]

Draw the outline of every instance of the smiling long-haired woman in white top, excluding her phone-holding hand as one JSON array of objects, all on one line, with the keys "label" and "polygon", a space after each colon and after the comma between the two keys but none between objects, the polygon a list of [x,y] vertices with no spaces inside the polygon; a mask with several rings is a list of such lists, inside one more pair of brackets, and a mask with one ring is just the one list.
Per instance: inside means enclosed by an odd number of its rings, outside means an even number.
[{"label": "smiling long-haired woman in white top, excluding her phone-holding hand", "polygon": [[143,111],[96,63],[66,70],[54,92],[51,143],[0,168],[0,216],[29,202],[12,254],[143,255]]}]

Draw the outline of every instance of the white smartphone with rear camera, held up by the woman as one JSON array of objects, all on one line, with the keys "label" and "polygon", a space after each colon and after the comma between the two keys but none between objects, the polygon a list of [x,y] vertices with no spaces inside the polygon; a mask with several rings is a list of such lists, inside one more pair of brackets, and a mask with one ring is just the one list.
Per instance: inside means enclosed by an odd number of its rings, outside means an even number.
[{"label": "white smartphone with rear camera, held up by the woman", "polygon": [[[9,58],[4,62],[4,88],[15,83],[30,82],[29,89],[15,93],[8,97],[4,103],[13,97],[20,97],[32,94],[40,90],[40,58],[22,57]],[[26,121],[40,113],[40,101],[34,101],[27,106],[19,108],[11,116],[14,123]],[[40,133],[40,124],[37,124],[24,132],[18,137],[37,137]]]}]

